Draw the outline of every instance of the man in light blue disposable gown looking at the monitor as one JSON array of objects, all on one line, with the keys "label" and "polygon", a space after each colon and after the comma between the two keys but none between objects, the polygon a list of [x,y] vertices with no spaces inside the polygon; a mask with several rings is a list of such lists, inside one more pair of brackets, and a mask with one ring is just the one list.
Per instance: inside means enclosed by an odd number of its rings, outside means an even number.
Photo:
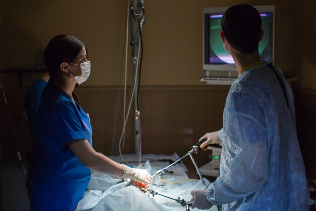
[{"label": "man in light blue disposable gown looking at the monitor", "polygon": [[236,5],[222,17],[221,38],[239,73],[228,93],[223,128],[201,147],[222,141],[220,177],[194,190],[193,207],[222,210],[309,210],[295,125],[293,94],[282,72],[260,61],[258,11]]}]

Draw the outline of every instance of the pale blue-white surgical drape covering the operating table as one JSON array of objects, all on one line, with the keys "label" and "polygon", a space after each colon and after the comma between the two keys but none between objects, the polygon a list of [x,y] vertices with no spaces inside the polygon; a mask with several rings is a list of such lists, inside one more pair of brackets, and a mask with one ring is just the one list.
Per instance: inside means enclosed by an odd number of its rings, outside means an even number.
[{"label": "pale blue-white surgical drape covering the operating table", "polygon": [[[156,164],[156,163],[155,163]],[[165,163],[160,163],[163,165],[168,165]],[[165,167],[159,166],[159,168]],[[181,165],[176,164],[172,166],[173,168],[168,168],[169,171],[174,171],[173,175],[164,175],[162,178],[167,181],[180,181],[187,180],[186,169],[181,167]],[[146,161],[145,165],[140,167],[146,169],[150,175],[153,175],[158,169],[150,166],[149,161]],[[79,201],[77,210],[91,210],[91,211],[132,211],[132,210],[157,210],[157,211],[184,211],[185,207],[181,206],[180,203],[176,201],[160,196],[152,195],[148,196],[141,192],[138,188],[130,185],[128,182],[118,183],[120,179],[112,178],[108,175],[93,173],[93,177],[88,185],[87,191],[84,193],[83,198]],[[210,182],[204,178],[206,185]],[[118,183],[118,184],[117,184]],[[164,185],[163,187],[160,185]],[[192,196],[190,194],[191,190],[205,189],[206,187],[201,180],[190,181],[183,183],[164,183],[159,180],[156,176],[154,177],[150,188],[160,193],[162,195],[177,199],[184,199],[189,201]],[[90,192],[90,190],[93,190]],[[102,191],[99,194],[99,190]],[[97,194],[96,194],[97,193]],[[198,210],[197,208],[190,210]],[[213,206],[208,209],[212,211],[217,211],[217,207]]]}]

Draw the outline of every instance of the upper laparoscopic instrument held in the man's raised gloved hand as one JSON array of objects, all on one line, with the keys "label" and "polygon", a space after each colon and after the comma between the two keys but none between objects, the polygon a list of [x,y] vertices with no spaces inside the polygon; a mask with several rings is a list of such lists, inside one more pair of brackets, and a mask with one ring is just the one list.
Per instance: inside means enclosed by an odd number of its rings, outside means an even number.
[{"label": "upper laparoscopic instrument held in the man's raised gloved hand", "polygon": [[[160,175],[165,174],[166,171],[167,171],[167,168],[169,168],[169,167],[172,166],[173,164],[179,162],[180,160],[182,160],[183,158],[185,158],[186,156],[189,155],[190,158],[191,158],[191,160],[192,160],[192,162],[193,162],[194,167],[196,168],[196,172],[197,172],[199,178],[200,178],[200,179],[202,180],[202,182],[204,183],[204,181],[203,181],[203,179],[202,179],[201,172],[200,172],[200,170],[199,170],[199,168],[198,168],[198,166],[197,166],[197,164],[196,164],[196,162],[195,162],[195,160],[194,160],[194,158],[193,158],[193,156],[192,156],[192,153],[197,154],[197,152],[202,149],[202,148],[200,147],[201,144],[202,144],[203,142],[205,142],[206,140],[207,140],[207,139],[201,139],[201,140],[199,140],[196,145],[193,145],[193,146],[191,147],[191,150],[188,151],[188,153],[187,153],[186,155],[184,155],[184,156],[181,157],[180,159],[174,161],[173,163],[171,163],[171,164],[168,165],[167,167],[164,167],[164,168],[158,170],[154,175],[152,175],[152,177],[154,177],[154,176],[156,176],[156,175],[159,177]],[[205,149],[206,149],[208,146],[217,146],[217,144],[209,144],[209,145],[207,145],[207,146],[205,147]]]}]

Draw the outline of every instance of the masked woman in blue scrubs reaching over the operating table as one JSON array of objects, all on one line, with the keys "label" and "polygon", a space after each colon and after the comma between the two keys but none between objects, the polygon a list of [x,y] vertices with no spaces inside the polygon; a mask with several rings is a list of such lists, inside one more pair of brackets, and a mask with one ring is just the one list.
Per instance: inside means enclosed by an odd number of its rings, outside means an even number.
[{"label": "masked woman in blue scrubs reaching over the operating table", "polygon": [[35,120],[33,159],[28,171],[31,210],[75,210],[90,180],[91,169],[150,183],[146,170],[130,168],[92,148],[92,128],[74,91],[90,74],[81,40],[52,38],[44,52],[49,81]]}]

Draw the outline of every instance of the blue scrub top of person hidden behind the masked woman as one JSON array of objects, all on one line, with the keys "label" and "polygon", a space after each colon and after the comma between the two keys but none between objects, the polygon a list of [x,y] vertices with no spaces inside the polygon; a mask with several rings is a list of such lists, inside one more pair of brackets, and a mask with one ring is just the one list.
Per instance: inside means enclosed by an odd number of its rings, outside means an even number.
[{"label": "blue scrub top of person hidden behind the masked woman", "polygon": [[32,139],[34,139],[35,115],[42,98],[42,92],[47,82],[41,78],[37,79],[27,91],[24,98],[24,106],[27,111],[27,119],[31,131]]}]

